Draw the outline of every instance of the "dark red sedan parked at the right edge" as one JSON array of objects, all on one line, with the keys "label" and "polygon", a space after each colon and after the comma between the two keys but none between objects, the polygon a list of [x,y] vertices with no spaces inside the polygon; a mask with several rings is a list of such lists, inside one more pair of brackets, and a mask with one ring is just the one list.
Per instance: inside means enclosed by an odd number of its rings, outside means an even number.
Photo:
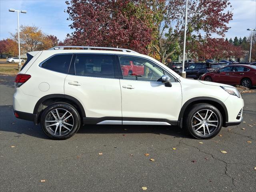
[{"label": "dark red sedan parked at the right edge", "polygon": [[224,84],[256,86],[256,66],[230,65],[202,75],[202,80]]}]

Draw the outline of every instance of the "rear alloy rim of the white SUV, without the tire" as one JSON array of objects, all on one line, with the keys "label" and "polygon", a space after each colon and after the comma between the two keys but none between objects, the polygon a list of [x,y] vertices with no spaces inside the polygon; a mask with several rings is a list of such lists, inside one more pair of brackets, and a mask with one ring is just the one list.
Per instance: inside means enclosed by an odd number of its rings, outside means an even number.
[{"label": "rear alloy rim of the white SUV, without the tire", "polygon": [[73,129],[74,118],[66,109],[54,109],[47,114],[45,126],[50,134],[63,136],[70,133]]}]

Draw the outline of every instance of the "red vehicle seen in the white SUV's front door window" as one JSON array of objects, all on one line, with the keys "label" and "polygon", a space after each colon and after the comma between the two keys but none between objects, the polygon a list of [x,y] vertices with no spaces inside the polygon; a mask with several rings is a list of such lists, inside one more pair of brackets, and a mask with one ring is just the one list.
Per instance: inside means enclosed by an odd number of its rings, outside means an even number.
[{"label": "red vehicle seen in the white SUV's front door window", "polygon": [[128,75],[137,75],[143,76],[144,75],[144,65],[133,61],[131,59],[120,58],[120,64],[123,72],[123,76]]}]

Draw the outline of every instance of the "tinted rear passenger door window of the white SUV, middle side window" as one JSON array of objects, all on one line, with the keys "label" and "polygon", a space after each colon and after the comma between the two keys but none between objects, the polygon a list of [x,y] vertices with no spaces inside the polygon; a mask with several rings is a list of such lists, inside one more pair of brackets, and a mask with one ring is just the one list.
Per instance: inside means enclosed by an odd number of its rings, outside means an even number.
[{"label": "tinted rear passenger door window of the white SUV, middle side window", "polygon": [[106,54],[77,54],[75,75],[115,78],[115,56]]}]

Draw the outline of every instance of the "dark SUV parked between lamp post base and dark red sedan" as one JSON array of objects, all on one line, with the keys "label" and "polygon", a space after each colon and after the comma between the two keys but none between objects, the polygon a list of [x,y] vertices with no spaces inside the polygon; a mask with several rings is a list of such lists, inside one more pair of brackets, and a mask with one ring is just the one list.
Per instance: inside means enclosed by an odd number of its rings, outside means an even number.
[{"label": "dark SUV parked between lamp post base and dark red sedan", "polygon": [[201,79],[202,75],[222,68],[218,63],[193,63],[190,64],[184,71],[186,71],[186,77]]}]

